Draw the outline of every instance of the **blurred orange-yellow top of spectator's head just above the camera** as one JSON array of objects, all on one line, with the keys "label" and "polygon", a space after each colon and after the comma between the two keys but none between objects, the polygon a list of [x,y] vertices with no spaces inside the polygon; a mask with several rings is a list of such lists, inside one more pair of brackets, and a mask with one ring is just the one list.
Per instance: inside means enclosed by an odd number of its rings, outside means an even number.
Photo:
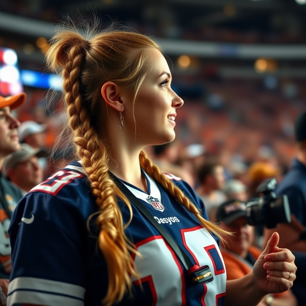
[{"label": "blurred orange-yellow top of spectator's head just above the camera", "polygon": [[248,197],[257,197],[258,195],[256,193],[256,188],[259,186],[259,184],[268,178],[276,177],[280,172],[280,169],[272,166],[268,162],[253,163],[248,170],[248,176],[250,180]]}]

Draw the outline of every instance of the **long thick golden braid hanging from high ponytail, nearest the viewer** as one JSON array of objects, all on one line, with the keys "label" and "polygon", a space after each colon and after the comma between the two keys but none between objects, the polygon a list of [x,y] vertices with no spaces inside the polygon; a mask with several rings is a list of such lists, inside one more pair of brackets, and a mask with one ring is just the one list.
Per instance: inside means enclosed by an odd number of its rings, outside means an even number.
[{"label": "long thick golden braid hanging from high ponytail, nearest the viewer", "polygon": [[109,284],[103,302],[112,305],[124,294],[131,292],[133,268],[131,253],[136,252],[124,233],[122,214],[116,196],[132,209],[124,194],[115,186],[108,174],[108,148],[91,125],[88,107],[81,93],[81,75],[86,57],[89,56],[90,42],[74,32],[60,32],[51,40],[47,52],[47,65],[52,71],[61,71],[64,79],[64,100],[69,114],[76,153],[88,175],[92,193],[99,206],[97,225],[100,229],[99,248],[108,267]]}]

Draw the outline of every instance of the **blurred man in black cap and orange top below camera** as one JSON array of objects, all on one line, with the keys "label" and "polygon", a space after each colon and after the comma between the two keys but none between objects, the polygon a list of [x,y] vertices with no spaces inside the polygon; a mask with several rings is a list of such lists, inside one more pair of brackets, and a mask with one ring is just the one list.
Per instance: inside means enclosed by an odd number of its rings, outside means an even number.
[{"label": "blurred man in black cap and orange top below camera", "polygon": [[[217,218],[223,230],[233,233],[233,237],[220,248],[226,267],[226,279],[237,279],[253,270],[254,263],[261,251],[252,246],[254,228],[247,224],[245,203],[228,200],[218,207]],[[297,306],[291,290],[279,294],[267,295],[260,306]]]}]

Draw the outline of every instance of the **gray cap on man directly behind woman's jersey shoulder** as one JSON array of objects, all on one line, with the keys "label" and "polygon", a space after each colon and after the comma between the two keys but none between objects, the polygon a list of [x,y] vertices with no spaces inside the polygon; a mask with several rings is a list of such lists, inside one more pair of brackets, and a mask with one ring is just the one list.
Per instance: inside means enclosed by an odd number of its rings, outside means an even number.
[{"label": "gray cap on man directly behind woman's jersey shoulder", "polygon": [[14,167],[19,162],[25,162],[33,156],[43,157],[47,154],[47,151],[44,148],[33,149],[28,144],[21,144],[20,149],[16,152],[13,152],[7,155],[3,159],[2,173],[4,177],[7,177],[7,171]]}]

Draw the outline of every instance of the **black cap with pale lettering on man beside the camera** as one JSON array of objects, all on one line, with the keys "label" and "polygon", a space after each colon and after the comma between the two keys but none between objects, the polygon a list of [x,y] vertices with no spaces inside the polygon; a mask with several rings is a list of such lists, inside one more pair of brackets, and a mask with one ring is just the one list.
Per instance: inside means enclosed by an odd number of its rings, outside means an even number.
[{"label": "black cap with pale lettering on man beside the camera", "polygon": [[245,217],[245,203],[230,199],[222,203],[217,210],[217,219],[229,225],[240,217]]}]

